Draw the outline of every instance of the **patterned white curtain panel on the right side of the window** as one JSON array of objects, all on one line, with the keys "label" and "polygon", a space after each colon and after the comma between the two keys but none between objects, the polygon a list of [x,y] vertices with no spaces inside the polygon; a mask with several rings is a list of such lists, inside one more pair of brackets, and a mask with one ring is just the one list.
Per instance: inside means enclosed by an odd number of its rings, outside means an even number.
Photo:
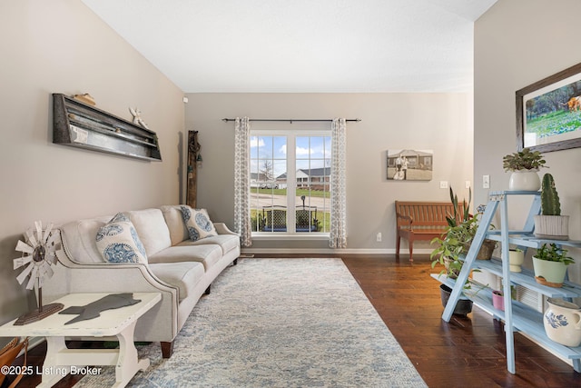
[{"label": "patterned white curtain panel on the right side of the window", "polygon": [[331,248],[347,248],[347,124],[344,118],[331,124],[330,240]]}]

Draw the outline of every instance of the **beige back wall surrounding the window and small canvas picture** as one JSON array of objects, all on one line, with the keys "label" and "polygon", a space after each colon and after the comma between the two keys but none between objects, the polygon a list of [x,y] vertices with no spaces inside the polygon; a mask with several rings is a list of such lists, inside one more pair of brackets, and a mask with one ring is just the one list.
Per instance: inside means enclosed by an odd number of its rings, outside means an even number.
[{"label": "beige back wall surrounding the window and small canvas picture", "polygon": [[[222,118],[360,118],[348,123],[348,245],[357,252],[395,249],[394,201],[448,200],[448,181],[468,195],[472,179],[472,100],[463,94],[189,94],[186,127],[200,131],[203,167],[198,204],[232,225],[233,123]],[[385,177],[388,149],[434,151],[431,182]],[[381,243],[376,234],[383,235]],[[255,241],[252,249],[326,249],[326,241]],[[423,244],[424,249],[428,248]],[[419,248],[422,244],[418,245]]]}]

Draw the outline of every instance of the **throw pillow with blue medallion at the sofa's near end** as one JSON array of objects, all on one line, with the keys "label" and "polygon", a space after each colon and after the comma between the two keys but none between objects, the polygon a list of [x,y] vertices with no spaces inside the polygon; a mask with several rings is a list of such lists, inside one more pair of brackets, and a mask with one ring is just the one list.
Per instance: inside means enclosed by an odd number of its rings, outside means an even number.
[{"label": "throw pillow with blue medallion at the sofa's near end", "polygon": [[129,218],[116,214],[96,236],[97,249],[109,263],[147,263],[147,255]]}]

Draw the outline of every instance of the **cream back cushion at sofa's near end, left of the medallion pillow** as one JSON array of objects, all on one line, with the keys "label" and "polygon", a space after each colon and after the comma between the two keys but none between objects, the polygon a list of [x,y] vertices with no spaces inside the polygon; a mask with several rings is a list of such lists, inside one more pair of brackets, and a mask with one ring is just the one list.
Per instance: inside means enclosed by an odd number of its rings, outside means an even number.
[{"label": "cream back cushion at sofa's near end, left of the medallion pillow", "polygon": [[75,262],[82,264],[103,263],[103,255],[97,248],[95,236],[111,215],[77,220],[59,227],[64,249]]}]

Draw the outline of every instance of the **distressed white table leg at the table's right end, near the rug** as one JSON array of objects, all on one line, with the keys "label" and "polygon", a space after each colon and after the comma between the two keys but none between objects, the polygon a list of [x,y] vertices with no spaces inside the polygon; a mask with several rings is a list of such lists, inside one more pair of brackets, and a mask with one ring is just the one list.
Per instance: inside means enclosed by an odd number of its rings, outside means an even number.
[{"label": "distressed white table leg at the table's right end, near the rug", "polygon": [[127,326],[121,333],[117,334],[119,339],[119,358],[115,367],[115,383],[113,387],[124,387],[138,371],[144,371],[149,367],[149,359],[139,360],[137,349],[133,343],[133,332],[135,323]]}]

